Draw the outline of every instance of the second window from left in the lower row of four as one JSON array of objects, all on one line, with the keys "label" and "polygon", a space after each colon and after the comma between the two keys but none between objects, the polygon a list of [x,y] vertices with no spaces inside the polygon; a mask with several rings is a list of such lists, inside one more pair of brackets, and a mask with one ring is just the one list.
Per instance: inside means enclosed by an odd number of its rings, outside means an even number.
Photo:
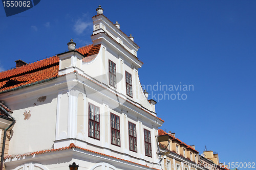
[{"label": "second window from left in the lower row of four", "polygon": [[111,113],[111,144],[120,147],[120,117]]}]

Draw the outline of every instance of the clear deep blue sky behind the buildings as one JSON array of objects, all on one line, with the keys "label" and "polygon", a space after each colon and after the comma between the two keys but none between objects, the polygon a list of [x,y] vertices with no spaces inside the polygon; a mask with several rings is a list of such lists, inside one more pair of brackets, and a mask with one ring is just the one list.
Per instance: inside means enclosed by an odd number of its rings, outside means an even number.
[{"label": "clear deep blue sky behind the buildings", "polygon": [[[221,162],[255,162],[256,1],[41,1],[6,17],[0,7],[0,70],[91,44],[98,5],[141,47],[143,85],[193,85],[186,100],[160,100],[162,129]],[[244,168],[239,168],[244,169]],[[248,168],[247,168],[248,169]]]}]

